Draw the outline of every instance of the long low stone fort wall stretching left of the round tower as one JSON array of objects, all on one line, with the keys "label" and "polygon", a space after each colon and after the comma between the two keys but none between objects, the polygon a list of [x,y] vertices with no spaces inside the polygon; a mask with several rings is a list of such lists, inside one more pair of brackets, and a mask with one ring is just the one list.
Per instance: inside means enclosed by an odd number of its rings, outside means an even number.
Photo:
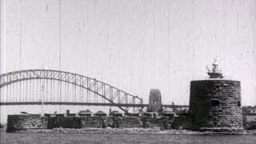
[{"label": "long low stone fort wall stretching left of the round tower", "polygon": [[[142,117],[114,117],[114,116],[54,116],[41,117],[39,114],[8,115],[7,132],[30,129],[53,128],[152,128],[172,129],[174,117],[150,118]],[[176,126],[177,127],[177,126]]]}]

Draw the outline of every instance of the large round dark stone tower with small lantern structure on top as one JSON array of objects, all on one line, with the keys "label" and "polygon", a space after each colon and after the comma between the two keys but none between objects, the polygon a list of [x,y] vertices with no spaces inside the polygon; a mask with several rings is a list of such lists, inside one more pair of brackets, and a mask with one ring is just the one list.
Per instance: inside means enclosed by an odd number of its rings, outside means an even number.
[{"label": "large round dark stone tower with small lantern structure on top", "polygon": [[190,82],[192,129],[226,134],[242,132],[240,82],[222,79],[222,74],[217,73],[213,70],[210,79]]}]

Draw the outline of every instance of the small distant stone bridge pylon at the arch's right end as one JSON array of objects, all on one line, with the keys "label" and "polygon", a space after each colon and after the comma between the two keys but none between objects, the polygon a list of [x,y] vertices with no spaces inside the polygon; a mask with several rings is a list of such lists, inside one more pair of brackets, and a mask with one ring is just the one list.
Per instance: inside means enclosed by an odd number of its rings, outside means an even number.
[{"label": "small distant stone bridge pylon at the arch's right end", "polygon": [[161,93],[158,89],[150,90],[150,102],[147,112],[160,112],[162,110]]}]

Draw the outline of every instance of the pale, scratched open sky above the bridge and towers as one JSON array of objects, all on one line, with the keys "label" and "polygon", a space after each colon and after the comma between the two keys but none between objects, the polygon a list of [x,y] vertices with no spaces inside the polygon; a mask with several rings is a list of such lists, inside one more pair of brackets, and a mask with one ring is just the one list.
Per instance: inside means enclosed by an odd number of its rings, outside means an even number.
[{"label": "pale, scratched open sky above the bridge and towers", "polygon": [[255,0],[1,0],[1,74],[64,70],[188,105],[216,58],[256,105]]}]

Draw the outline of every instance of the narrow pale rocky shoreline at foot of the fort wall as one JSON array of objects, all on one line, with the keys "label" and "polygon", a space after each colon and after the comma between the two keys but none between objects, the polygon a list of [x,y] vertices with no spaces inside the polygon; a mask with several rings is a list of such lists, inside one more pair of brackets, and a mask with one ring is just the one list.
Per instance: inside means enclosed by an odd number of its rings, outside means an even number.
[{"label": "narrow pale rocky shoreline at foot of the fort wall", "polygon": [[[188,134],[188,135],[206,135],[206,134],[222,134],[214,133],[211,131],[194,131],[194,130],[160,130],[159,128],[54,128],[54,129],[28,129],[28,130],[15,130],[18,133],[57,133],[57,134]],[[223,133],[224,134],[224,133]],[[230,133],[237,134],[237,133]],[[245,130],[243,135],[256,135],[256,130]]]}]

